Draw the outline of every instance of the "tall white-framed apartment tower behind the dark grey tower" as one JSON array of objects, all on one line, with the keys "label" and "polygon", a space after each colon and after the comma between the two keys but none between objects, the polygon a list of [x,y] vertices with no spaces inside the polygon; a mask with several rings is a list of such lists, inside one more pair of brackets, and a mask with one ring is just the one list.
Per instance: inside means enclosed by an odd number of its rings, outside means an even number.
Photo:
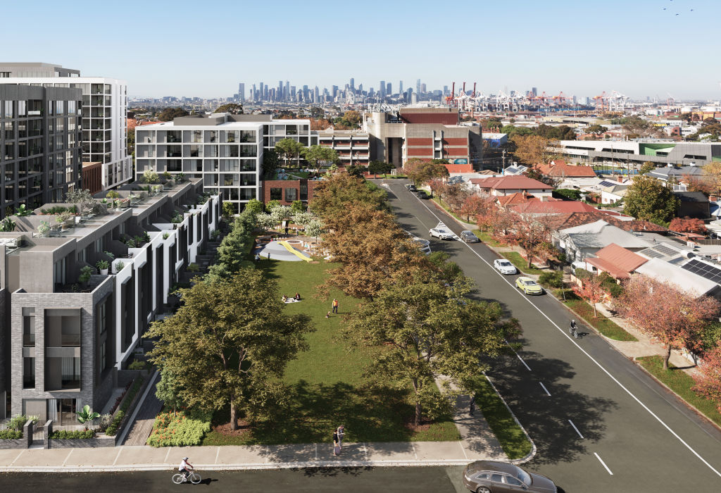
[{"label": "tall white-framed apartment tower behind the dark grey tower", "polygon": [[125,81],[84,77],[77,70],[50,63],[0,62],[0,84],[80,89],[82,161],[102,163],[103,190],[133,179],[133,158],[128,156]]}]

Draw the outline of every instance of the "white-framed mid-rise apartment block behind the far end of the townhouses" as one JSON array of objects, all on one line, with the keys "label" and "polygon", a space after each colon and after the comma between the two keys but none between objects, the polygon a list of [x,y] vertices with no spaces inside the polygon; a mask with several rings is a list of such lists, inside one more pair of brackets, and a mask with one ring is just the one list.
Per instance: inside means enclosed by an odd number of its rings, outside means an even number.
[{"label": "white-framed mid-rise apartment block behind the far end of the townhouses", "polygon": [[208,192],[239,213],[262,200],[263,153],[283,138],[317,143],[310,120],[273,120],[270,115],[190,115],[136,128],[136,170],[182,172],[201,179]]}]

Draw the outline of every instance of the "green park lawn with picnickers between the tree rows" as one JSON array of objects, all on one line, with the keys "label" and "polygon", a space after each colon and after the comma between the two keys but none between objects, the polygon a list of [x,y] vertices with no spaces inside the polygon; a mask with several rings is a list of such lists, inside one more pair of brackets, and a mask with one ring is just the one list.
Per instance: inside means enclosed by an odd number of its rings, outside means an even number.
[{"label": "green park lawn with picnickers between the tree rows", "polygon": [[[304,313],[311,317],[316,332],[308,334],[309,350],[301,352],[288,363],[285,382],[291,386],[291,407],[274,423],[262,422],[242,435],[228,436],[211,431],[203,445],[250,445],[275,443],[328,442],[332,431],[345,424],[348,442],[459,440],[454,422],[448,418],[413,431],[404,425],[414,412],[409,403],[410,388],[373,386],[373,378],[365,378],[363,370],[381,351],[361,347],[346,350],[340,339],[342,316],[357,305],[358,300],[340,290],[330,290],[329,299],[314,298],[316,286],[324,280],[324,272],[332,264],[264,260],[259,267],[274,277],[280,294],[300,293],[300,303],[286,305],[288,313]],[[340,314],[331,311],[332,298],[339,302]],[[229,409],[216,413],[213,425],[228,421]]]}]

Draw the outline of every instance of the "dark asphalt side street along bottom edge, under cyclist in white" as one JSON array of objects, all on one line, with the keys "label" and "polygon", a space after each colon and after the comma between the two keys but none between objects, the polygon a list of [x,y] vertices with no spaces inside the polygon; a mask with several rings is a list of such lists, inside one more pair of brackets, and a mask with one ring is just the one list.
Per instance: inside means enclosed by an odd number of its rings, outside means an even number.
[{"label": "dark asphalt side street along bottom edge, under cyclist in white", "polygon": [[0,474],[4,492],[293,492],[462,493],[463,468],[310,468],[198,471],[200,484],[173,484],[175,471],[87,474]]}]

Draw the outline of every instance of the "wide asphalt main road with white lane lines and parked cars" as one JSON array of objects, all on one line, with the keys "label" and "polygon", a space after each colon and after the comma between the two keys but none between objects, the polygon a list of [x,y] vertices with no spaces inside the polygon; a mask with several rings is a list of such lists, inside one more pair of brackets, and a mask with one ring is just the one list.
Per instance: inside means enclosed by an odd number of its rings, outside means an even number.
[{"label": "wide asphalt main road with white lane lines and parked cars", "polygon": [[721,491],[721,432],[691,412],[603,337],[580,326],[551,295],[526,296],[517,276],[491,265],[485,244],[441,241],[428,229],[438,221],[461,228],[402,180],[385,182],[399,223],[433,251],[451,254],[474,278],[478,297],[499,301],[523,327],[518,357],[492,361],[488,373],[539,451],[526,464],[566,492]]}]

